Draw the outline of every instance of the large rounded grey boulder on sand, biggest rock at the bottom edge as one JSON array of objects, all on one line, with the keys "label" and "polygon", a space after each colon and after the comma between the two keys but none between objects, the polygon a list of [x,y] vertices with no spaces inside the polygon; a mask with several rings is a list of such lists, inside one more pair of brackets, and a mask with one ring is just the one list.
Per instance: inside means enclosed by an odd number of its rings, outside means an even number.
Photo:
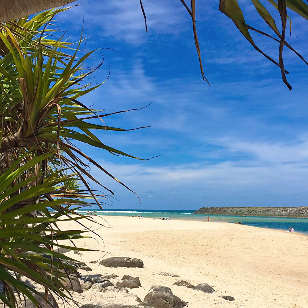
[{"label": "large rounded grey boulder on sand, biggest rock at the bottom edge", "polygon": [[169,292],[152,291],[148,293],[144,302],[148,302],[150,307],[154,308],[183,308],[187,305],[177,296]]}]

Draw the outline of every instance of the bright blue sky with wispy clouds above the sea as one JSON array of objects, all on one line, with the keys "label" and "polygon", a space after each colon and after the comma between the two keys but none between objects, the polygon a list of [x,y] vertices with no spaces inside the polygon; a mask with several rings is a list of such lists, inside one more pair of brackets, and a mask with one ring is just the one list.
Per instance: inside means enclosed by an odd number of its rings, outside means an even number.
[{"label": "bright blue sky with wispy clouds above the sea", "polygon": [[[200,2],[200,1],[199,1]],[[143,1],[148,33],[137,1],[78,1],[61,15],[61,29],[79,39],[84,18],[87,49],[96,52],[91,65],[105,63],[95,74],[110,78],[83,103],[118,111],[147,108],[106,118],[121,128],[151,126],[131,132],[98,132],[101,140],[139,161],[82,147],[136,196],[92,167],[104,185],[115,190],[107,208],[197,209],[202,206],[304,206],[308,200],[308,70],[284,49],[287,77],[258,54],[218,1],[197,2],[197,30],[205,76],[202,81],[191,19],[180,1]],[[247,24],[267,30],[248,1]],[[307,58],[307,24],[292,18],[287,41]],[[274,12],[280,25],[278,12]],[[271,33],[272,34],[272,33]],[[278,61],[278,43],[252,34]],[[294,39],[296,38],[296,39]],[[96,80],[95,80],[96,81]],[[93,188],[97,188],[93,185]]]}]

